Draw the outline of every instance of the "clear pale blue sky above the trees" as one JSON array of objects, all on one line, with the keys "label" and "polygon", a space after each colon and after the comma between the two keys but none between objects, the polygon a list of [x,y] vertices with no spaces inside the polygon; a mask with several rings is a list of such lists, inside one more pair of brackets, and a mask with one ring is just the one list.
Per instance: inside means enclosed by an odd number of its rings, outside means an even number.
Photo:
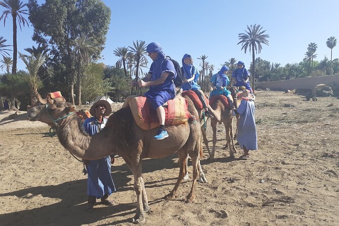
[{"label": "clear pale blue sky above the trees", "polygon": [[[23,0],[24,3],[28,2]],[[39,3],[45,1],[39,0]],[[247,25],[260,24],[270,35],[269,46],[262,45],[256,57],[281,63],[302,61],[309,43],[318,45],[318,58],[330,58],[326,40],[335,36],[339,42],[339,1],[137,1],[104,0],[111,9],[111,21],[107,33],[103,62],[114,65],[118,57],[113,51],[117,47],[132,46],[133,41],[159,42],[166,55],[181,63],[183,54],[189,53],[196,59],[205,54],[207,61],[220,68],[220,63],[231,57],[245,62],[247,67],[251,55],[241,51],[238,34]],[[0,7],[0,12],[4,10]],[[33,28],[18,30],[18,50],[36,45],[31,36]],[[11,18],[6,27],[0,22],[0,36],[12,44]],[[339,57],[339,43],[333,49],[332,58]],[[147,58],[149,61],[149,58]],[[18,68],[24,69],[21,60]]]}]

